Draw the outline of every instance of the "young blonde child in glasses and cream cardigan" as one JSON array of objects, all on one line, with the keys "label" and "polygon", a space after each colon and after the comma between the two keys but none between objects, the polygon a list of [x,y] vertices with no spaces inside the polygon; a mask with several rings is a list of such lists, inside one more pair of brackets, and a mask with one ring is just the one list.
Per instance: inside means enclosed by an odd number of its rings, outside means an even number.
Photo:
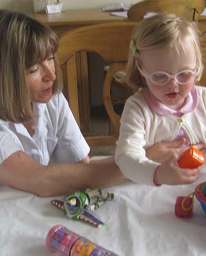
[{"label": "young blonde child in glasses and cream cardigan", "polygon": [[178,156],[149,160],[153,144],[184,138],[184,146],[206,145],[206,88],[196,86],[203,70],[196,25],[175,14],[145,19],[133,31],[124,80],[139,91],[121,118],[115,161],[136,183],[157,186],[193,183],[199,169],[181,169]]}]

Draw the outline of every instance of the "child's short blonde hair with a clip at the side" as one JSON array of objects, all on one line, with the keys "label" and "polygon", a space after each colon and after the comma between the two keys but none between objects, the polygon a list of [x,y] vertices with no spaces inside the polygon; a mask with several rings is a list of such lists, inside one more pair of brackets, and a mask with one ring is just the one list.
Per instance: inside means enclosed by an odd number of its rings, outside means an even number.
[{"label": "child's short blonde hair with a clip at the side", "polygon": [[198,71],[196,80],[199,81],[203,70],[200,32],[194,22],[177,17],[175,14],[157,14],[134,27],[124,81],[138,87],[146,86],[146,81],[140,76],[135,63],[138,62],[141,50],[170,47],[178,53],[180,49],[184,50],[185,38],[193,43],[196,51]]}]

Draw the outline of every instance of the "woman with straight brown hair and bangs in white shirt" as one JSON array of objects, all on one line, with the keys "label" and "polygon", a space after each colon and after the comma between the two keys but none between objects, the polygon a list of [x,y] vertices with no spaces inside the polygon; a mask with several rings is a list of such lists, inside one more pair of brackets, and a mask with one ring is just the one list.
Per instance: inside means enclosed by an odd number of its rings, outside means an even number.
[{"label": "woman with straight brown hair and bangs in white shirt", "polygon": [[2,10],[0,38],[0,182],[44,197],[124,182],[113,158],[90,163],[61,93],[56,34]]}]

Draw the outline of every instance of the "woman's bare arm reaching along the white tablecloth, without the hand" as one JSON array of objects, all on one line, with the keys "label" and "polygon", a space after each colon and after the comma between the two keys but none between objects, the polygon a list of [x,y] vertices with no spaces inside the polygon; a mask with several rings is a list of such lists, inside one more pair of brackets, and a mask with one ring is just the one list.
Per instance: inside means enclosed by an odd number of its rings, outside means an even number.
[{"label": "woman's bare arm reaching along the white tablecloth, without the hand", "polygon": [[15,152],[0,164],[0,182],[40,197],[61,195],[90,187],[104,188],[127,182],[113,157],[89,164],[41,165],[24,152]]}]

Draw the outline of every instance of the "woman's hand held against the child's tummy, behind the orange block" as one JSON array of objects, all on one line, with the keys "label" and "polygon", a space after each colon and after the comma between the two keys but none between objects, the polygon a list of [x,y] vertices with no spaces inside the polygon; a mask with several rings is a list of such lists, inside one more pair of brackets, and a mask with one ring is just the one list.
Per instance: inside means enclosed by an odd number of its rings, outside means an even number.
[{"label": "woman's hand held against the child's tummy, behind the orange block", "polygon": [[[156,143],[155,145],[147,148],[146,157],[154,162],[163,163],[174,154],[180,156],[183,152],[185,152],[189,147],[181,147],[184,143],[185,138],[175,141]],[[202,143],[191,146],[199,150],[204,148],[204,144]]]}]

